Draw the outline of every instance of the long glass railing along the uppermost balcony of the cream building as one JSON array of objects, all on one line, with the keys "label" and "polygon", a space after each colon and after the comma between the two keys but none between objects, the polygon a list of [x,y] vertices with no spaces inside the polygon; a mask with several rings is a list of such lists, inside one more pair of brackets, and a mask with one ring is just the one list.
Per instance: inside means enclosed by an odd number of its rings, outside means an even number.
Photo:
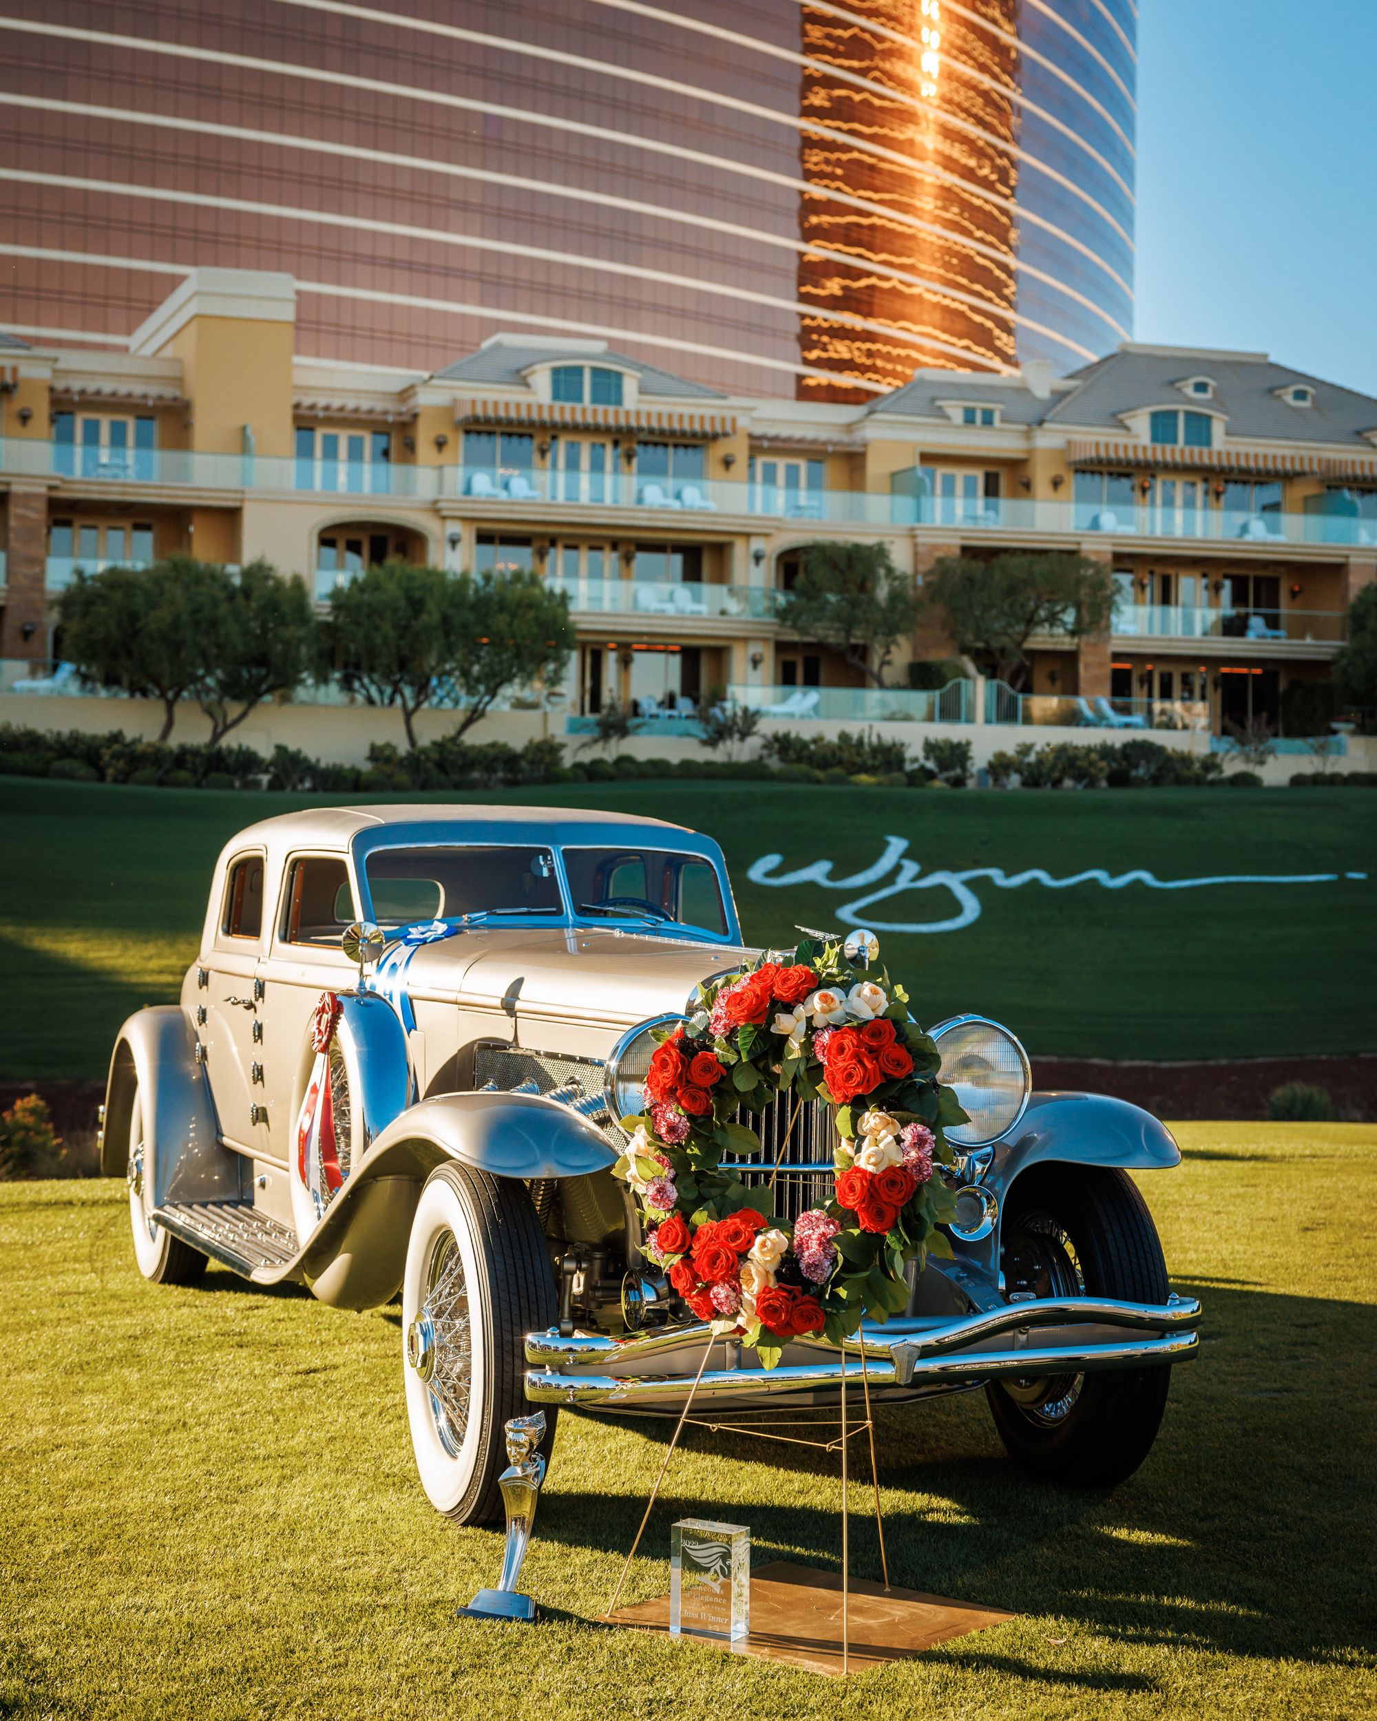
[{"label": "long glass railing along the uppermost balcony of the cream building", "polygon": [[[0,470],[74,484],[162,484],[220,490],[472,501],[520,520],[527,508],[630,508],[645,518],[732,515],[824,525],[931,527],[1021,535],[1236,540],[1257,544],[1377,546],[1377,518],[1336,496],[1324,511],[1239,511],[1145,503],[1076,503],[1033,497],[914,496],[824,490],[742,478],[671,478],[639,472],[563,468],[418,466],[293,454],[208,454],[189,449],[98,449],[31,437],[0,441]],[[904,475],[907,477],[907,473]],[[1329,499],[1325,499],[1329,503]]]}]

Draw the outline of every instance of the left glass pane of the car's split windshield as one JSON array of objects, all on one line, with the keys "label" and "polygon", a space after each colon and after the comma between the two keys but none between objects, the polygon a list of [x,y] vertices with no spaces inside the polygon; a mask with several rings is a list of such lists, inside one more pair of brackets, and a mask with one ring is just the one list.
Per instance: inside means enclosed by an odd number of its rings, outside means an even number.
[{"label": "left glass pane of the car's split windshield", "polygon": [[379,926],[565,909],[549,848],[375,848],[363,869]]}]

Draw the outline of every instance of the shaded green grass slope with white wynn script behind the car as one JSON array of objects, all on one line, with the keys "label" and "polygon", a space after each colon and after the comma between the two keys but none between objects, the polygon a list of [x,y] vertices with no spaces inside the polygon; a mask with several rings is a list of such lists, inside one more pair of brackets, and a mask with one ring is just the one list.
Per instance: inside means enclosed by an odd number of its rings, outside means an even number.
[{"label": "shaded green grass slope with white wynn script behind the car", "polygon": [[[711,831],[732,864],[747,936],[761,943],[792,938],[799,921],[835,926],[835,910],[864,890],[752,885],[754,860],[781,854],[797,869],[831,859],[845,878],[873,866],[888,835],[909,840],[924,869],[1043,867],[1067,878],[1143,867],[1160,879],[1363,871],[1362,881],[1179,891],[978,881],[973,924],[885,933],[883,943],[921,1019],[981,1010],[1007,1021],[1034,1053],[1377,1048],[1377,795],[1367,792],[1000,795],[661,780],[485,799],[639,811]],[[124,1015],[176,998],[220,845],[243,824],[310,800],[0,778],[9,981],[0,1076],[100,1076]],[[873,917],[954,912],[948,890],[911,890]]]}]

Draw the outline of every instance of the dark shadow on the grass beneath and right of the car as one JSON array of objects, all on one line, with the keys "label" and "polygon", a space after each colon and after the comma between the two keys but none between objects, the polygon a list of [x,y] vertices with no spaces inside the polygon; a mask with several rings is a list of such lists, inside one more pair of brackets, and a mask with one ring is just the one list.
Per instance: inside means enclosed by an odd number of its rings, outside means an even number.
[{"label": "dark shadow on the grass beneath and right of the car", "polygon": [[[1377,1435],[1367,1408],[1377,1387],[1372,1310],[1219,1282],[1201,1291],[1210,1344],[1176,1370],[1157,1446],[1110,1492],[1041,1482],[1003,1458],[960,1456],[962,1447],[988,1453],[993,1440],[974,1396],[880,1411],[892,1580],[1052,1614],[1124,1644],[1306,1662],[1377,1650],[1367,1585],[1377,1528],[1370,1489]],[[635,1427],[663,1447],[673,1423],[637,1420]],[[802,1558],[840,1568],[835,1454],[695,1427],[685,1428],[680,1451],[694,1466],[694,1492],[683,1471],[676,1477],[676,1453],[642,1556],[663,1558],[675,1518],[726,1516],[750,1525],[757,1563]],[[704,1499],[704,1458],[764,1463],[769,1473],[795,1480],[776,1492],[802,1494],[804,1502],[744,1501],[737,1475],[723,1477],[730,1504],[713,1504]],[[558,1461],[556,1451],[556,1477]],[[647,1470],[649,1492],[658,1463]],[[880,1576],[864,1449],[852,1475],[850,1570]],[[551,1492],[537,1535],[625,1556],[644,1497]],[[981,1666],[998,1666],[983,1652],[969,1654]],[[1021,1662],[1005,1671],[1079,1678]],[[1086,1676],[1090,1687],[1096,1681]]]}]

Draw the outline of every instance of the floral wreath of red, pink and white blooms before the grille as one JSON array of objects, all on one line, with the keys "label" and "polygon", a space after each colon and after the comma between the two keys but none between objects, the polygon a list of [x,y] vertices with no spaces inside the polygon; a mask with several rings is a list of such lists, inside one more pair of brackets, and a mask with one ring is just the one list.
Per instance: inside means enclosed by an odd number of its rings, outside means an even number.
[{"label": "floral wreath of red, pink and white blooms before the grille", "polygon": [[[943,1126],[966,1122],[885,969],[855,967],[831,941],[790,955],[697,988],[687,1021],[658,1036],[645,1112],[621,1119],[630,1141],[613,1167],[639,1198],[649,1258],[699,1320],[756,1346],[766,1368],[792,1337],[840,1342],[868,1317],[902,1313],[905,1265],[952,1255],[936,1227],[955,1201],[933,1165],[952,1162]],[[733,1113],[776,1093],[821,1096],[842,1136],[835,1200],[792,1225],[773,1212],[773,1175],[747,1189],[721,1167],[761,1150]]]}]

